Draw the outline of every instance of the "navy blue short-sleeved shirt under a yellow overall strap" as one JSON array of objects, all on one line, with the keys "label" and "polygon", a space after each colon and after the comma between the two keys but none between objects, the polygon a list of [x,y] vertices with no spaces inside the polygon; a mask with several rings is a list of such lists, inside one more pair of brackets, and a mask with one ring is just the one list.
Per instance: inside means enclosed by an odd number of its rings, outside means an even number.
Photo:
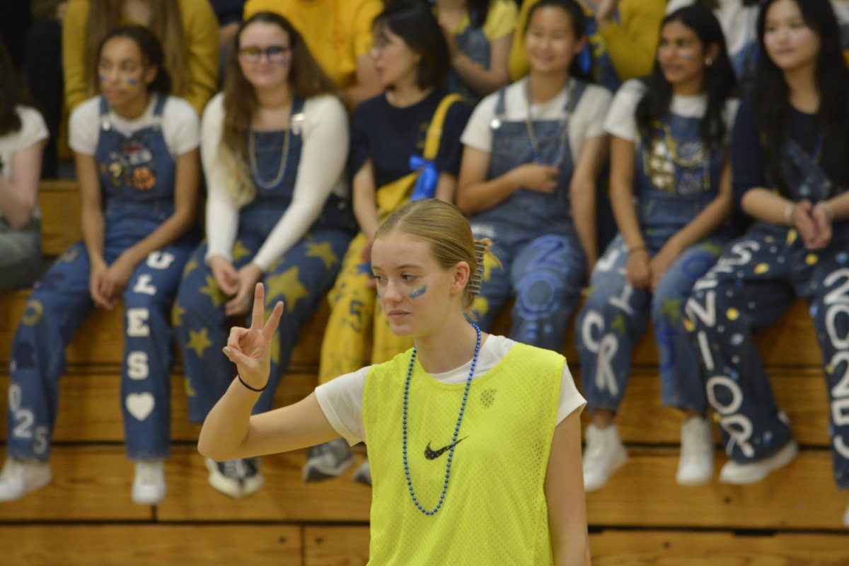
[{"label": "navy blue short-sleeved shirt under a yellow overall strap", "polygon": [[[351,176],[356,175],[369,158],[374,165],[375,188],[408,175],[410,156],[424,153],[424,137],[436,107],[448,94],[444,88],[430,92],[423,100],[404,108],[389,104],[385,94],[363,101],[351,120]],[[471,108],[455,102],[448,109],[434,164],[437,171],[457,177],[463,144],[460,135],[471,115]]]}]

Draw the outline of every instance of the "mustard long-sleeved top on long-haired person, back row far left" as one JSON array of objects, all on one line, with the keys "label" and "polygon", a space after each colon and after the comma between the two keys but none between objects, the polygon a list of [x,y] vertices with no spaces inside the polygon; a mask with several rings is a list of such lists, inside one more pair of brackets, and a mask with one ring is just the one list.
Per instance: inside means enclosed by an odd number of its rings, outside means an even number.
[{"label": "mustard long-sleeved top on long-haired person, back row far left", "polygon": [[[188,49],[188,91],[173,92],[188,100],[198,115],[218,88],[218,20],[210,3],[179,0],[183,33]],[[65,74],[65,105],[69,110],[90,98],[86,75],[86,23],[88,0],[70,0],[62,20],[62,67]],[[122,20],[119,25],[142,24]],[[184,70],[168,70],[171,76]]]}]

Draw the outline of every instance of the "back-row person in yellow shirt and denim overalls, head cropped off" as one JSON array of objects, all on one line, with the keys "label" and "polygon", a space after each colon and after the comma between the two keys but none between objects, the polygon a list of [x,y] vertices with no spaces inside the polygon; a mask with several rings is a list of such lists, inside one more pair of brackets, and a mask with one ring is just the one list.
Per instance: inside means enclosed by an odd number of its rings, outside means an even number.
[{"label": "back-row person in yellow shirt and denim overalls, head cropped off", "polygon": [[509,82],[507,58],[519,9],[513,0],[436,0],[451,53],[447,86],[469,104]]}]

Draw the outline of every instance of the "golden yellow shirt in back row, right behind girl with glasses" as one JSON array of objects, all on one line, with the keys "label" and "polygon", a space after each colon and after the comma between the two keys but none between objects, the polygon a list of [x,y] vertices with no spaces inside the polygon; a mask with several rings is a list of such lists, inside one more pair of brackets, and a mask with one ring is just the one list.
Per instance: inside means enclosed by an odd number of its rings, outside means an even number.
[{"label": "golden yellow shirt in back row, right behind girl with glasses", "polygon": [[357,58],[368,53],[380,0],[248,0],[245,20],[275,12],[304,36],[310,53],[341,88],[357,84]]}]

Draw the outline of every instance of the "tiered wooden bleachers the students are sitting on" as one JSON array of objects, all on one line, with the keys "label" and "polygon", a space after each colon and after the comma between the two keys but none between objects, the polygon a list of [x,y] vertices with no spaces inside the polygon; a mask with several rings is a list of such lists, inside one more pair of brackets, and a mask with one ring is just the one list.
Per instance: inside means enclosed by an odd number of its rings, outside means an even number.
[{"label": "tiered wooden bleachers the students are sitting on", "polygon": [[[46,253],[58,255],[76,234],[73,185],[42,190]],[[52,205],[47,205],[52,201]],[[70,212],[73,210],[73,212]],[[8,352],[26,293],[0,297],[0,390],[8,387]],[[328,308],[301,335],[278,403],[315,386]],[[498,320],[506,332],[508,316]],[[849,564],[841,527],[846,496],[832,479],[829,407],[820,355],[805,305],[797,303],[759,338],[779,403],[802,450],[795,462],[758,485],[675,484],[680,417],[660,406],[654,345],[644,339],[619,426],[629,461],[610,484],[588,494],[596,566],[812,566]],[[570,361],[577,356],[570,335]],[[120,408],[121,312],[96,313],[69,349],[53,436],[53,484],[0,504],[0,564],[284,564],[342,566],[368,558],[368,487],[351,471],[321,484],[301,483],[304,453],[267,457],[267,485],[233,501],[206,483],[189,425],[183,375],[172,377],[173,454],[168,496],[155,507],[130,501]],[[574,371],[578,373],[575,366]],[[5,404],[0,438],[5,439]],[[357,454],[357,459],[362,458]],[[717,470],[725,461],[716,455]]]}]

